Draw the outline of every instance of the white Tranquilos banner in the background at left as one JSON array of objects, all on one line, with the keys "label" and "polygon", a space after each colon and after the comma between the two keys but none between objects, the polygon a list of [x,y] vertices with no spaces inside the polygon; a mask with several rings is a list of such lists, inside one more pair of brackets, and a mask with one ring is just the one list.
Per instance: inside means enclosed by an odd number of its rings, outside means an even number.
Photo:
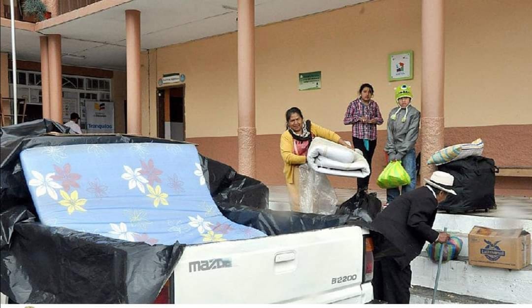
[{"label": "white Tranquilos banner in the background at left", "polygon": [[114,132],[113,102],[87,102],[87,132]]}]

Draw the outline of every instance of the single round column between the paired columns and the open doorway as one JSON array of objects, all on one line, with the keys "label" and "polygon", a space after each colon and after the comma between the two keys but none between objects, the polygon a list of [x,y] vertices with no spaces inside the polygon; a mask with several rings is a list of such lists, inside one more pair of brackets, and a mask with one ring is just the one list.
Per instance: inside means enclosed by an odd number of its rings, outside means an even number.
[{"label": "single round column between the paired columns and the open doorway", "polygon": [[126,11],[128,134],[141,135],[140,114],[140,12]]}]

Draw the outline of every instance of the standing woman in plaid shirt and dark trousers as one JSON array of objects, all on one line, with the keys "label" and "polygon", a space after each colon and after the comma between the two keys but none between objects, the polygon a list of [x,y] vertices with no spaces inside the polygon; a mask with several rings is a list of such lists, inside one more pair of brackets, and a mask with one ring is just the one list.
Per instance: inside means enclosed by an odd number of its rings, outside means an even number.
[{"label": "standing woman in plaid shirt and dark trousers", "polygon": [[[377,146],[377,125],[383,124],[383,116],[380,115],[379,105],[373,101],[373,87],[370,84],[362,84],[359,89],[359,97],[347,107],[344,124],[353,125],[353,146],[360,149],[364,158],[368,161],[371,170],[371,158]],[[367,189],[369,177],[358,178],[358,189]]]}]

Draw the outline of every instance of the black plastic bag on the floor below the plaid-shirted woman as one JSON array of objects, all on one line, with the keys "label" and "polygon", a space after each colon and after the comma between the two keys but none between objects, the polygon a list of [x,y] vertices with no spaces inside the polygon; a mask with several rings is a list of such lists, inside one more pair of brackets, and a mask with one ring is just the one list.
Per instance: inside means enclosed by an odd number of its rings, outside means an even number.
[{"label": "black plastic bag on the floor below the plaid-shirted woman", "polygon": [[380,213],[383,203],[377,198],[377,193],[370,193],[359,189],[356,194],[338,206],[336,214],[351,214],[361,217],[365,222],[372,222]]}]

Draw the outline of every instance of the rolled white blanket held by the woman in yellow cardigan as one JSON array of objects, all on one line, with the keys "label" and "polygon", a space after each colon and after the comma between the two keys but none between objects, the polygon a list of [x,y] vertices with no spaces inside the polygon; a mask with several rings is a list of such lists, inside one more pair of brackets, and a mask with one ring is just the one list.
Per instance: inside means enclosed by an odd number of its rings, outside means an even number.
[{"label": "rolled white blanket held by the woman in yellow cardigan", "polygon": [[313,170],[333,176],[364,178],[370,173],[368,161],[360,150],[320,137],[312,139],[306,160]]}]

